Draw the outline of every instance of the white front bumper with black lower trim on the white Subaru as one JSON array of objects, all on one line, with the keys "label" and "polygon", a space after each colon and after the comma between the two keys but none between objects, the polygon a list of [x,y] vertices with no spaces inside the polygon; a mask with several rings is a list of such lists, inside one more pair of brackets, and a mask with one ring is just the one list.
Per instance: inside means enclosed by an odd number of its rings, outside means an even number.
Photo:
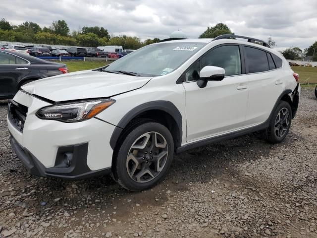
[{"label": "white front bumper with black lower trim on the white Subaru", "polygon": [[[114,125],[96,118],[74,123],[39,119],[36,112],[51,104],[21,91],[13,101],[25,117],[11,119],[8,113],[11,145],[32,174],[79,179],[110,172]],[[71,156],[70,163],[64,163],[65,156]]]}]

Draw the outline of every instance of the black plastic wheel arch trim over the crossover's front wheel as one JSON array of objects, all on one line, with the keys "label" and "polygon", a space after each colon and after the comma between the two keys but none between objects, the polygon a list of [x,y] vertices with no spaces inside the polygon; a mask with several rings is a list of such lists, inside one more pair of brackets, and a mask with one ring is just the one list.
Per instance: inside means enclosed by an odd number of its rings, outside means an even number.
[{"label": "black plastic wheel arch trim over the crossover's front wheel", "polygon": [[[146,111],[150,110],[161,110],[166,113],[168,113],[175,121],[177,124],[177,129],[179,131],[179,143],[181,143],[181,138],[183,134],[182,130],[182,115],[176,108],[176,106],[169,102],[169,101],[152,101],[148,103],[141,104],[132,110],[130,110],[116,125],[114,131],[112,132],[111,138],[110,138],[110,146],[114,150],[114,147],[117,143],[117,140],[119,139],[119,136],[122,132],[122,130],[126,127],[126,125],[135,117],[140,115],[141,113],[144,113]],[[180,145],[176,145],[180,146]]]}]

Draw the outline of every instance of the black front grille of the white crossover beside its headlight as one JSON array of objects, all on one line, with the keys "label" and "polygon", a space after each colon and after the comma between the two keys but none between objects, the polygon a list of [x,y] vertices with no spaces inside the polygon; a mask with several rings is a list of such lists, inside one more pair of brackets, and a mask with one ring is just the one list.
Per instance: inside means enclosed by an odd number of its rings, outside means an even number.
[{"label": "black front grille of the white crossover beside its headlight", "polygon": [[23,132],[24,122],[28,114],[28,107],[13,100],[8,103],[8,119],[16,129]]}]

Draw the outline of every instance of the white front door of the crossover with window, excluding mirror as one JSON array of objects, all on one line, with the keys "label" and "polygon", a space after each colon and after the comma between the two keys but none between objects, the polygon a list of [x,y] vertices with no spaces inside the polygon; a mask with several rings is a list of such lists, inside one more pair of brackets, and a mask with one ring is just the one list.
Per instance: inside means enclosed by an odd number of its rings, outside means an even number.
[{"label": "white front door of the crossover with window, excluding mirror", "polygon": [[[248,101],[245,75],[238,44],[211,49],[185,73],[187,142],[200,140],[242,128]],[[200,70],[207,65],[225,69],[222,81],[197,85]]]}]

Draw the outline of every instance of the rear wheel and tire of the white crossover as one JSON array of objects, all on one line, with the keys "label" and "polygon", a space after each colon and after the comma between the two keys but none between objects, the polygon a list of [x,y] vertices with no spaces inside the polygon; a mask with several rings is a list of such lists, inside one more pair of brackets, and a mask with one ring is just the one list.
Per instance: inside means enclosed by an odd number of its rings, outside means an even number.
[{"label": "rear wheel and tire of the white crossover", "polygon": [[265,139],[270,143],[282,142],[291,126],[292,109],[289,103],[280,101],[265,131]]}]

